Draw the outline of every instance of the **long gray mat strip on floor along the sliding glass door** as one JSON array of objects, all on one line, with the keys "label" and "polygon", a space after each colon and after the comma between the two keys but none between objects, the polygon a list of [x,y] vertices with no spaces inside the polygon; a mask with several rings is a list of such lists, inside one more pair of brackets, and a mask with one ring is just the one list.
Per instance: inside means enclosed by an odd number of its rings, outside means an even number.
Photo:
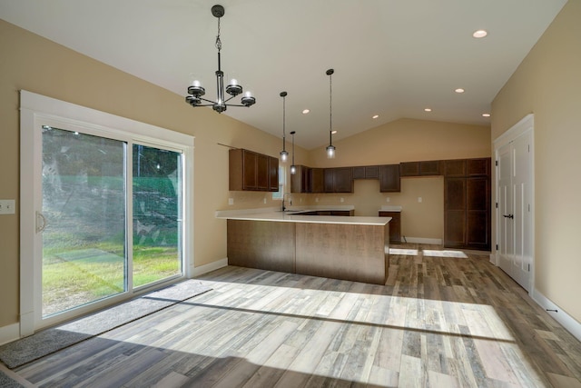
[{"label": "long gray mat strip on floor along the sliding glass door", "polygon": [[6,343],[0,346],[0,361],[14,369],[211,289],[196,280],[173,284],[99,313]]}]

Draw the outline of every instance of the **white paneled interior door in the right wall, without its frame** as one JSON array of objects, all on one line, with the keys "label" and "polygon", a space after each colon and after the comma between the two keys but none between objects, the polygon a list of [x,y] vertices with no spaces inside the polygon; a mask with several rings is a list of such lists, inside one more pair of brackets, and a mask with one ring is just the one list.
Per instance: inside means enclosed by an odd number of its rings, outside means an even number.
[{"label": "white paneled interior door in the right wall, without its frame", "polygon": [[532,120],[517,125],[521,126],[517,135],[495,144],[497,255],[500,268],[530,291],[534,249]]}]

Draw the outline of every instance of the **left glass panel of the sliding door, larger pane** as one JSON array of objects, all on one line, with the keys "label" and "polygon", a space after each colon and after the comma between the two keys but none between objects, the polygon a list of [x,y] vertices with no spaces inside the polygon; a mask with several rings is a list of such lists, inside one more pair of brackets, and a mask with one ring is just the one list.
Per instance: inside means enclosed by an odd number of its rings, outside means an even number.
[{"label": "left glass panel of the sliding door, larger pane", "polygon": [[126,144],[43,126],[43,317],[127,291]]}]

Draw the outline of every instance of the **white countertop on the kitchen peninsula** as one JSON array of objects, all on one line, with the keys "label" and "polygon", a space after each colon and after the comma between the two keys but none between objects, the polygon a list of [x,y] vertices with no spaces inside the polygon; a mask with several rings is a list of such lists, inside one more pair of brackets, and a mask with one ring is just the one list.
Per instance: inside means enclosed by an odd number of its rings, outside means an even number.
[{"label": "white countertop on the kitchen peninsula", "polygon": [[[304,209],[310,211],[312,208]],[[335,210],[338,210],[335,208]],[[300,211],[300,210],[296,210]],[[227,211],[219,210],[216,218],[246,221],[275,221],[283,223],[311,223],[311,224],[357,224],[384,226],[391,221],[391,217],[361,217],[347,215],[300,215],[293,212],[281,212],[263,209],[255,211]]]}]

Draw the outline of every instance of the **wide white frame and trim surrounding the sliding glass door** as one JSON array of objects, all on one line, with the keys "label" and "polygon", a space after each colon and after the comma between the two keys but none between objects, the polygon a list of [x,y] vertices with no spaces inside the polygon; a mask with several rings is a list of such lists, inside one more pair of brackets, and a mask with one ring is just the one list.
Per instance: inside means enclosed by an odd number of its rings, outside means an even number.
[{"label": "wide white frame and trim surrounding the sliding glass door", "polygon": [[[96,134],[133,143],[161,147],[183,155],[183,238],[181,277],[172,282],[190,278],[193,274],[193,148],[194,137],[152,124],[144,124],[114,114],[107,114],[77,104],[66,103],[25,90],[20,91],[20,336],[34,330],[70,319],[95,308],[117,303],[135,294],[150,291],[143,286],[103,301],[79,307],[54,317],[42,317],[42,234],[37,227],[42,221],[37,212],[42,210],[42,131],[43,124],[55,127],[82,128],[84,133]],[[128,158],[130,159],[130,158]],[[127,162],[131,168],[131,160]],[[131,186],[131,185],[130,185]],[[131,188],[129,188],[131,190]],[[128,193],[128,194],[131,194]],[[131,211],[131,210],[130,210]],[[131,222],[131,217],[129,217]],[[130,224],[131,226],[131,224]],[[129,230],[132,230],[131,228]],[[131,284],[130,284],[131,285]],[[155,284],[159,286],[160,284]]]}]

